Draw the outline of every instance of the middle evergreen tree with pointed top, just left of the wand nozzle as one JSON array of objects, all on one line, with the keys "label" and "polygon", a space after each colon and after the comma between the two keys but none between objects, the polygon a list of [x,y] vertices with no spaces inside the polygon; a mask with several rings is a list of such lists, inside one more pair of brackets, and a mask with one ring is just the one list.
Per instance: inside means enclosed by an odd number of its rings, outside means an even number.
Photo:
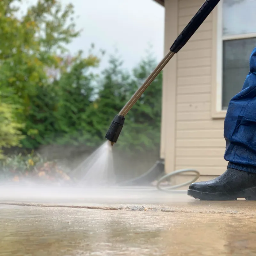
[{"label": "middle evergreen tree with pointed top, just left of the wand nozzle", "polygon": [[132,96],[130,80],[130,75],[122,69],[122,62],[111,56],[109,67],[103,71],[99,80],[98,98],[86,112],[91,143],[104,141],[112,119]]}]

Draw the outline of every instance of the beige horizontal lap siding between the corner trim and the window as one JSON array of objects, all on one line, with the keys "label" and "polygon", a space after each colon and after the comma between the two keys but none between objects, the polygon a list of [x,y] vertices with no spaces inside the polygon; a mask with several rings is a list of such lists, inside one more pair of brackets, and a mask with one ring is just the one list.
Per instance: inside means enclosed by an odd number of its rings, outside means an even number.
[{"label": "beige horizontal lap siding between the corner trim and the window", "polygon": [[[204,0],[179,0],[178,32],[188,24]],[[202,175],[220,175],[224,119],[212,119],[213,14],[177,56],[175,169],[193,168]]]}]

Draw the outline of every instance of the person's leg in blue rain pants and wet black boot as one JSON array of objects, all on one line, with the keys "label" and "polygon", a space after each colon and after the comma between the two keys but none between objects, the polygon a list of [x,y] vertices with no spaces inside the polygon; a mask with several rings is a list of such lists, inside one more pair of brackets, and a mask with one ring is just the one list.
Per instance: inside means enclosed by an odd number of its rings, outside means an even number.
[{"label": "person's leg in blue rain pants and wet black boot", "polygon": [[228,169],[219,177],[190,185],[202,200],[256,200],[256,48],[242,91],[230,101],[224,123]]}]

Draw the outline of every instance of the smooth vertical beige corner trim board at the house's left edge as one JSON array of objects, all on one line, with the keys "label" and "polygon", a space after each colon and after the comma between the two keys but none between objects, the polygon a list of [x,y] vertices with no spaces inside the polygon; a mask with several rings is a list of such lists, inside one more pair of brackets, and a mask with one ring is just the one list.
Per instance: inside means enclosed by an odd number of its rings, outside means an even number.
[{"label": "smooth vertical beige corner trim board at the house's left edge", "polygon": [[[164,55],[178,36],[178,0],[165,0]],[[170,25],[171,24],[171,25]],[[177,55],[164,68],[162,93],[162,125],[160,157],[165,159],[165,171],[175,167]]]}]

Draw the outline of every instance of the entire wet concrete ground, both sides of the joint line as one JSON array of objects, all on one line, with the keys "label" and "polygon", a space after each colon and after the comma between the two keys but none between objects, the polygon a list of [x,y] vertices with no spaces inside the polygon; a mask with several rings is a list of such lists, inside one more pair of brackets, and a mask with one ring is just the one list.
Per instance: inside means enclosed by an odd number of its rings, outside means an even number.
[{"label": "entire wet concrete ground, both sides of the joint line", "polygon": [[256,255],[253,201],[139,188],[9,189],[0,189],[1,256]]}]

